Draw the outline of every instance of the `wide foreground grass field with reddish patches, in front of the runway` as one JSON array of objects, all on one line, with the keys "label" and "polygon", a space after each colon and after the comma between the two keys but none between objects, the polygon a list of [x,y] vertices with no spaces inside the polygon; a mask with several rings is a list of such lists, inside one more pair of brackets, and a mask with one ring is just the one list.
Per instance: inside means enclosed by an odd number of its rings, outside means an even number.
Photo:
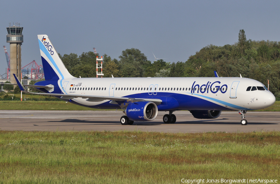
[{"label": "wide foreground grass field with reddish patches, in front of the runway", "polygon": [[0,131],[5,184],[279,181],[279,173],[280,132]]}]

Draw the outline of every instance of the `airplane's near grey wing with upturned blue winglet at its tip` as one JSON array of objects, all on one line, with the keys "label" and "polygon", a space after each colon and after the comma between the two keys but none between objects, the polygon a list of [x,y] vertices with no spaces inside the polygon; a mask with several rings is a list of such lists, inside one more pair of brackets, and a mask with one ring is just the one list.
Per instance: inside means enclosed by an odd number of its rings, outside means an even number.
[{"label": "airplane's near grey wing with upturned blue winglet at its tip", "polygon": [[[139,101],[149,101],[149,102],[153,102],[156,105],[161,104],[162,100],[161,99],[138,99],[138,98],[127,98],[127,97],[111,97],[111,96],[92,96],[92,95],[81,95],[81,94],[58,94],[58,93],[32,93],[27,91],[23,85],[21,84],[21,82],[19,81],[19,79],[16,77],[15,74],[13,74],[15,76],[17,85],[19,86],[20,90],[24,93],[27,94],[40,94],[40,95],[51,95],[51,96],[61,96],[61,99],[73,99],[73,98],[83,98],[83,99],[87,99],[86,101],[90,101],[90,102],[101,102],[103,100],[112,100],[115,101],[116,103],[112,103],[112,104],[121,104],[121,103],[117,103],[117,101],[127,101],[127,102],[139,102]],[[35,85],[36,86],[36,85]],[[32,85],[33,87],[33,85]],[[49,87],[49,86],[44,86],[45,87]],[[123,102],[122,102],[123,103]]]}]

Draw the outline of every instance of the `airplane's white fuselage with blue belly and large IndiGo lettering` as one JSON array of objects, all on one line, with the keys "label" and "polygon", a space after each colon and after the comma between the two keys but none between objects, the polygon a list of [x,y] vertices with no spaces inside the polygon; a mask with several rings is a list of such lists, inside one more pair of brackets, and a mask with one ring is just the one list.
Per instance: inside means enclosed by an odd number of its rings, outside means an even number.
[{"label": "airplane's white fuselage with blue belly and large IndiGo lettering", "polygon": [[[178,101],[178,110],[253,110],[269,107],[275,102],[274,95],[268,90],[246,91],[249,86],[263,87],[262,83],[239,77],[74,78],[59,80],[58,86],[61,86],[63,94],[155,99],[171,97]],[[72,101],[102,108],[102,104],[110,100],[89,102],[75,98]],[[216,105],[211,108],[211,104]],[[108,105],[104,108],[108,108]]]}]

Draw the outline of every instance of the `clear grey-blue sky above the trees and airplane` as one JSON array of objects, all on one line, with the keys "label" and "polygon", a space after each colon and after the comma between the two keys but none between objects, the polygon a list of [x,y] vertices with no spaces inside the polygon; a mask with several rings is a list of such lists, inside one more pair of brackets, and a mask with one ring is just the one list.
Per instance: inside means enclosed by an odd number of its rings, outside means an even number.
[{"label": "clear grey-blue sky above the trees and airplane", "polygon": [[[152,62],[153,53],[185,62],[207,45],[236,43],[240,29],[247,39],[280,41],[279,7],[278,0],[2,1],[0,42],[10,53],[6,27],[17,22],[23,27],[22,66],[42,64],[38,34],[48,35],[61,55],[95,47],[100,56],[119,60],[122,51],[136,48]],[[0,76],[7,68],[2,46]]]}]

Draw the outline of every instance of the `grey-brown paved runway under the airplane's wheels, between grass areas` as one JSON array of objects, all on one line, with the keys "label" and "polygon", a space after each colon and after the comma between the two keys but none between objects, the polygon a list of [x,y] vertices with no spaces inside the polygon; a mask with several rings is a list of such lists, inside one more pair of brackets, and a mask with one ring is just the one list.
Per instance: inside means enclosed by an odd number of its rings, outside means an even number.
[{"label": "grey-brown paved runway under the airplane's wheels, between grass areas", "polygon": [[0,110],[1,130],[24,131],[118,131],[156,132],[252,132],[279,131],[280,112],[247,112],[248,124],[240,124],[238,111],[223,111],[217,119],[195,119],[189,111],[176,111],[175,124],[162,121],[166,112],[159,112],[154,121],[121,125],[121,111],[20,111]]}]

